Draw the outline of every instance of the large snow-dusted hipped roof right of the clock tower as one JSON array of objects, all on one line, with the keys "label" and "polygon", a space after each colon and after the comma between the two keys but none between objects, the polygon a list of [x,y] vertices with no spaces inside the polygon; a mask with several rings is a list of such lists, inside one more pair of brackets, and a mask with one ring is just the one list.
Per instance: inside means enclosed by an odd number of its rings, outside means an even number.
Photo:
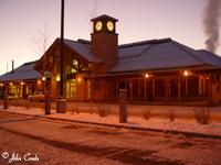
[{"label": "large snow-dusted hipped roof right of the clock tower", "polygon": [[196,51],[171,38],[162,38],[120,45],[118,63],[110,73],[202,66],[221,67],[221,57],[208,51]]}]

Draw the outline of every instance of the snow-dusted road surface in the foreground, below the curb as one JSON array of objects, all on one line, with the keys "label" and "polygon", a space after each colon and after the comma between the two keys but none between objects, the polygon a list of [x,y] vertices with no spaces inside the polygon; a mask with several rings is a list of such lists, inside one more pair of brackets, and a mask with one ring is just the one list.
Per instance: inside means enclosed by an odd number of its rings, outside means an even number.
[{"label": "snow-dusted road surface in the foreground, below the curb", "polygon": [[[22,165],[221,164],[219,139],[88,125],[6,112],[0,112],[0,139],[2,165],[8,164],[13,153],[18,158],[14,162]],[[32,160],[28,162],[30,157]]]}]

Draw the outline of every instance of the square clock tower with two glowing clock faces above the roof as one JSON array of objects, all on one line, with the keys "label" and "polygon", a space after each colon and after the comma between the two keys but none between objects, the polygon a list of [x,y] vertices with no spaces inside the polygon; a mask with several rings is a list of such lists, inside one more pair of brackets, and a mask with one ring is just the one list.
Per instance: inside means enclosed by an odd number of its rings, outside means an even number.
[{"label": "square clock tower with two glowing clock faces above the roof", "polygon": [[117,64],[118,59],[118,34],[116,34],[118,20],[101,15],[91,21],[93,23],[91,51],[104,62],[102,67],[98,67],[98,73],[105,74]]}]

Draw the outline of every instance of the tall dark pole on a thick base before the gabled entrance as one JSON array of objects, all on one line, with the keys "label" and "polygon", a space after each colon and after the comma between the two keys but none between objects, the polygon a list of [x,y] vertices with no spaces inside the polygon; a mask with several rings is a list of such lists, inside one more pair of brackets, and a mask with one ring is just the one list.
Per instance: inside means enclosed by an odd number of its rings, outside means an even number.
[{"label": "tall dark pole on a thick base before the gabled entrance", "polygon": [[60,53],[60,97],[56,101],[56,112],[65,113],[66,111],[66,100],[64,98],[63,87],[64,87],[64,0],[61,4],[61,53]]}]

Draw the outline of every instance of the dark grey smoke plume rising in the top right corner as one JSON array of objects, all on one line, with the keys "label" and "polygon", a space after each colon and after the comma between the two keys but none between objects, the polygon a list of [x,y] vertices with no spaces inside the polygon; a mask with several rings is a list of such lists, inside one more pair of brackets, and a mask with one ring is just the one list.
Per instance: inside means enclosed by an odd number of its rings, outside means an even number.
[{"label": "dark grey smoke plume rising in the top right corner", "polygon": [[207,36],[207,50],[215,53],[219,46],[219,29],[221,22],[221,0],[207,0],[203,10],[203,31]]}]

